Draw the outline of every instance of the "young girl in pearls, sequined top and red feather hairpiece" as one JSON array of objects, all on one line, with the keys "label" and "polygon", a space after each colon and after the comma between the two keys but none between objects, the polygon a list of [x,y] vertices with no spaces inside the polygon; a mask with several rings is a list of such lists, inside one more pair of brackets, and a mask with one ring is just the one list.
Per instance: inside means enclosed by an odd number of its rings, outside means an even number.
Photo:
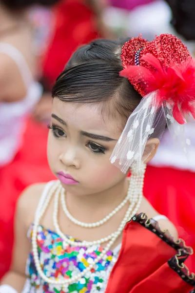
[{"label": "young girl in pearls, sequined top and red feather hairpiece", "polygon": [[53,88],[47,153],[58,180],[21,195],[0,293],[195,292],[192,250],[142,195],[166,122],[178,131],[194,115],[194,68],[171,35],[75,52]]}]

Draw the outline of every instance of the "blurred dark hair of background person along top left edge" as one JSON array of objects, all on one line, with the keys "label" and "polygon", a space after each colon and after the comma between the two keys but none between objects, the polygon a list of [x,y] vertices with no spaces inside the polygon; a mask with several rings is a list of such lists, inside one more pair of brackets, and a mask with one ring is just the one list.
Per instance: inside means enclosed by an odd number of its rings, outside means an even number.
[{"label": "blurred dark hair of background person along top left edge", "polygon": [[32,5],[52,6],[59,2],[59,0],[0,0],[9,10],[21,10]]}]

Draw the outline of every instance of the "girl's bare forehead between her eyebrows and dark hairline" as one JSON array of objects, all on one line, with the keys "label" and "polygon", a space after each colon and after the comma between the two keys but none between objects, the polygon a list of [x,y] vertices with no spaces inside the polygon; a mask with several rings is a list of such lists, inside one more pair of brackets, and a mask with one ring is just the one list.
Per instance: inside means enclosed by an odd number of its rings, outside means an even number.
[{"label": "girl's bare forehead between her eyebrows and dark hairline", "polygon": [[70,127],[83,131],[103,130],[118,135],[116,119],[102,114],[101,104],[63,102],[54,98],[52,112]]}]

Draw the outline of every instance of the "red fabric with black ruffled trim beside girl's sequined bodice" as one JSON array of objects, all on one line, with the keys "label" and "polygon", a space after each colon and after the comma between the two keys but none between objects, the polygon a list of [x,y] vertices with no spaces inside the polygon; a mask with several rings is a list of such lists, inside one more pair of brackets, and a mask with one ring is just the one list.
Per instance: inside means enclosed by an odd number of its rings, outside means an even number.
[{"label": "red fabric with black ruffled trim beside girl's sequined bodice", "polygon": [[167,261],[176,250],[133,221],[127,223],[105,293],[189,293],[193,287]]}]

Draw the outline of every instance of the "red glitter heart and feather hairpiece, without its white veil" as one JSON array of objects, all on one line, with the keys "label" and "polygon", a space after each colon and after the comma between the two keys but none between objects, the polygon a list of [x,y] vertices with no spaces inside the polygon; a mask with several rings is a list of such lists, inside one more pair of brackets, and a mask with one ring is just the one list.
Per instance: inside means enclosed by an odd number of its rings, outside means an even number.
[{"label": "red glitter heart and feather hairpiece, without its white veil", "polygon": [[[143,46],[137,66],[136,50]],[[159,90],[158,105],[171,104],[179,124],[184,124],[186,114],[195,118],[195,61],[179,39],[169,34],[160,35],[153,42],[140,37],[131,39],[124,44],[121,59],[124,69],[120,75],[127,77],[142,97]]]}]

